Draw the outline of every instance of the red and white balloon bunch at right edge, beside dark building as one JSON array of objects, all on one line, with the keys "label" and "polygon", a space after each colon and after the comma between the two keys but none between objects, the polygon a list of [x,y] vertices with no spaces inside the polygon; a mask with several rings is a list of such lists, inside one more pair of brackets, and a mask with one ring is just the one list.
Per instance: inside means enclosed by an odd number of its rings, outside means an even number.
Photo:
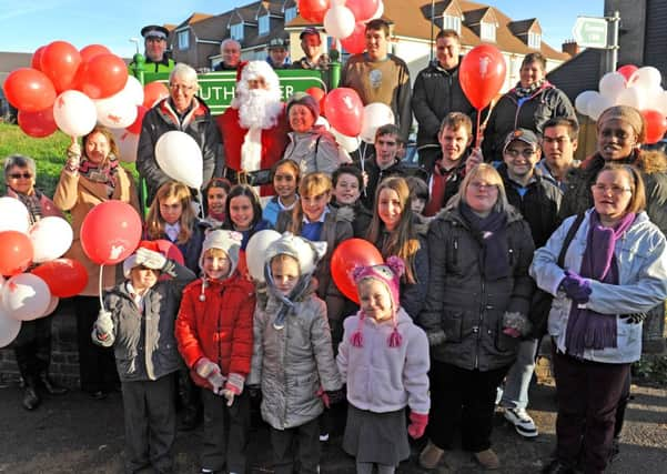
[{"label": "red and white balloon bunch at right edge, beside dark building", "polygon": [[658,142],[667,132],[667,91],[660,87],[660,71],[650,65],[627,64],[607,72],[599,80],[599,91],[577,95],[575,108],[593,120],[613,105],[630,105],[646,120],[646,143]]}]

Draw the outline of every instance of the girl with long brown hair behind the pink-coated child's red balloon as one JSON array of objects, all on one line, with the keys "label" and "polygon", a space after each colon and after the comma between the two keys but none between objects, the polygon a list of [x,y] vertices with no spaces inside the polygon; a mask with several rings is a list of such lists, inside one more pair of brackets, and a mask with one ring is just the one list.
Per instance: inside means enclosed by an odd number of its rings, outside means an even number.
[{"label": "girl with long brown hair behind the pink-coated child's red balloon", "polygon": [[400,256],[405,262],[401,278],[401,305],[416,320],[428,283],[427,226],[420,223],[412,210],[410,188],[404,178],[383,180],[375,190],[373,219],[366,240],[373,243],[383,259]]}]

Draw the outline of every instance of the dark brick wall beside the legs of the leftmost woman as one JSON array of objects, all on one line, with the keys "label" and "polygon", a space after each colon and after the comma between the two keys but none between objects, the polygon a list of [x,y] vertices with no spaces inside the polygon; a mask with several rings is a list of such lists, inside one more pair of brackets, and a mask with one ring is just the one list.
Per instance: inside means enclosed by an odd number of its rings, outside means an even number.
[{"label": "dark brick wall beside the legs of the leftmost woman", "polygon": [[[51,326],[51,376],[69,387],[79,386],[79,354],[77,352],[77,319],[70,300],[62,300]],[[17,382],[19,367],[9,347],[0,349],[0,380]]]}]

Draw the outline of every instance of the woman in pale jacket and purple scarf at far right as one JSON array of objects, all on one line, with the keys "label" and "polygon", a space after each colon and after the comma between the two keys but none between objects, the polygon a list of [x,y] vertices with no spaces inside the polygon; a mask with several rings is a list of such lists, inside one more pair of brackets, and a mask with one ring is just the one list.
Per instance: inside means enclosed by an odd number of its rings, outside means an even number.
[{"label": "woman in pale jacket and purple scarf at far right", "polygon": [[557,258],[576,218],[567,219],[535,252],[530,274],[552,293],[548,319],[558,396],[556,458],[545,473],[586,473],[607,466],[616,405],[630,364],[641,355],[643,313],[667,296],[665,236],[644,212],[639,172],[606,164],[592,185],[586,211]]}]

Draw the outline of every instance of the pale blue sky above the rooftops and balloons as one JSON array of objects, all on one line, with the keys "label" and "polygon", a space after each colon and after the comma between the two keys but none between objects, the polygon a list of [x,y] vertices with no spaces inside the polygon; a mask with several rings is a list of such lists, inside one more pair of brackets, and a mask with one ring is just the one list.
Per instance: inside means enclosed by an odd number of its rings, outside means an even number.
[{"label": "pale blue sky above the rooftops and balloons", "polygon": [[[424,0],[426,3],[428,0]],[[192,12],[218,14],[240,0],[0,0],[0,51],[33,52],[42,44],[64,40],[83,48],[100,43],[114,53],[130,57],[149,23],[179,23]],[[482,3],[482,1],[481,1]],[[602,17],[604,0],[489,0],[513,19],[537,17],[543,37],[552,47],[572,38],[578,14]]]}]

